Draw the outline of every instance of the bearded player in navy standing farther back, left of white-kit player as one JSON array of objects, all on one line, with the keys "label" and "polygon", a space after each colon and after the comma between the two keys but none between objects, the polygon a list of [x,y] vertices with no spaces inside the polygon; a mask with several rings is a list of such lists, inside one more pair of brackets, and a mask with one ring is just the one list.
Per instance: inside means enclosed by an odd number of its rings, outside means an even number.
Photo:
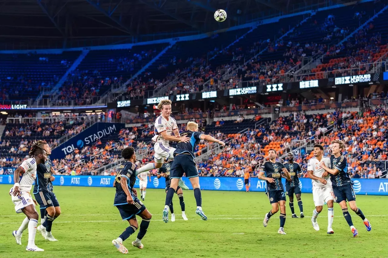
[{"label": "bearded player in navy standing farther back, left of white-kit player", "polygon": [[296,200],[298,200],[298,206],[300,210],[300,217],[304,218],[305,215],[303,214],[303,203],[300,198],[301,191],[299,187],[299,177],[302,174],[302,169],[300,165],[296,162],[294,162],[294,155],[290,152],[288,153],[288,162],[283,163],[284,167],[288,170],[288,172],[291,175],[290,180],[286,180],[286,194],[288,195],[288,198],[290,199],[289,205],[292,212],[293,218],[298,218],[294,212],[294,194],[296,196]]}]

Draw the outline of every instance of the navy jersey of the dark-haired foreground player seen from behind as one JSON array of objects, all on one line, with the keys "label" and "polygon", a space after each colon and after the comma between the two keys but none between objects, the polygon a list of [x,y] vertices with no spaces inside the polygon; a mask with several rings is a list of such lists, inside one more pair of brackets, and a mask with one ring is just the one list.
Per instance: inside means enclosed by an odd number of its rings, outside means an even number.
[{"label": "navy jersey of the dark-haired foreground player seen from behind", "polygon": [[114,196],[114,205],[122,205],[126,204],[126,194],[121,187],[121,178],[125,177],[128,183],[129,192],[132,195],[132,198],[135,199],[135,195],[132,192],[132,188],[136,182],[136,165],[132,162],[125,160],[121,163],[120,167],[116,172],[115,187],[116,187],[116,195]]}]

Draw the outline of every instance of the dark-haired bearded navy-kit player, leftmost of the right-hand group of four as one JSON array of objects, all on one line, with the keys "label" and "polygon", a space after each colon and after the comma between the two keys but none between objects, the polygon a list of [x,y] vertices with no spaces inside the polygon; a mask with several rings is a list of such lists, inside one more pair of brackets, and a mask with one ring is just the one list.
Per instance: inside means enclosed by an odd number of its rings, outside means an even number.
[{"label": "dark-haired bearded navy-kit player, leftmost of the right-hand group of four", "polygon": [[284,224],[286,223],[286,194],[282,184],[282,175],[290,180],[291,175],[280,162],[276,161],[277,153],[274,149],[268,151],[269,161],[263,163],[260,167],[258,178],[267,181],[265,193],[272,205],[272,209],[265,214],[263,226],[267,227],[269,219],[279,211],[280,206],[280,228],[278,234],[285,235]]}]

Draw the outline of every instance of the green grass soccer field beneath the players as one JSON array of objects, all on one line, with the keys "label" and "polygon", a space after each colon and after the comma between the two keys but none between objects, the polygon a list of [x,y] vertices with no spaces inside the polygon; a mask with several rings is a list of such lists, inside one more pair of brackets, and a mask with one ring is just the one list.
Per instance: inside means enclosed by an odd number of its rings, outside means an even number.
[{"label": "green grass soccer field beneath the players", "polygon": [[[114,189],[104,187],[55,187],[62,214],[54,221],[52,233],[58,242],[48,242],[39,234],[35,243],[45,249],[42,253],[27,253],[28,230],[23,234],[22,246],[12,236],[24,215],[17,215],[8,194],[10,185],[0,185],[0,257],[89,258],[121,257],[112,245],[128,226],[121,221],[113,206]],[[144,249],[133,248],[131,242],[137,232],[124,244],[130,257],[193,258],[193,257],[388,257],[387,219],[388,196],[357,196],[357,204],[372,224],[367,232],[362,220],[351,212],[359,237],[353,238],[340,207],[334,205],[334,235],[326,234],[327,208],[318,219],[321,230],[316,232],[310,216],[314,209],[312,195],[302,194],[305,215],[291,218],[287,204],[286,236],[277,234],[279,214],[271,218],[268,227],[262,225],[263,216],[270,210],[264,193],[202,191],[203,210],[208,221],[195,215],[192,191],[185,191],[188,221],[177,220],[165,224],[161,218],[165,193],[148,189],[144,201],[153,214],[142,243]],[[175,213],[180,214],[179,200],[174,196]],[[298,206],[296,213],[299,213]],[[177,217],[178,219],[180,216]],[[140,223],[139,223],[140,225]]]}]

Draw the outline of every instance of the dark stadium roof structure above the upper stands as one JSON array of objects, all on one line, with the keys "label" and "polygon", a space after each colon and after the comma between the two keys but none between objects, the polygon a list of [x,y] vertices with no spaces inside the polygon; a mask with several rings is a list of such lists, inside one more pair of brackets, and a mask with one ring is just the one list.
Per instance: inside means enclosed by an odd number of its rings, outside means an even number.
[{"label": "dark stadium roof structure above the upper stands", "polygon": [[[0,41],[75,46],[133,43],[229,28],[328,5],[328,0],[1,0]],[[330,1],[331,4],[350,0]],[[217,9],[227,11],[215,22]],[[146,36],[145,36],[146,35]],[[153,36],[151,36],[153,35]],[[156,36],[159,35],[159,36]],[[149,39],[147,39],[149,38]],[[97,41],[96,41],[97,40]],[[86,43],[86,41],[90,41]],[[99,43],[96,43],[99,42]],[[62,46],[61,46],[62,47]],[[3,47],[2,47],[3,48]],[[9,48],[9,47],[8,47]],[[3,48],[4,49],[4,48]]]}]

